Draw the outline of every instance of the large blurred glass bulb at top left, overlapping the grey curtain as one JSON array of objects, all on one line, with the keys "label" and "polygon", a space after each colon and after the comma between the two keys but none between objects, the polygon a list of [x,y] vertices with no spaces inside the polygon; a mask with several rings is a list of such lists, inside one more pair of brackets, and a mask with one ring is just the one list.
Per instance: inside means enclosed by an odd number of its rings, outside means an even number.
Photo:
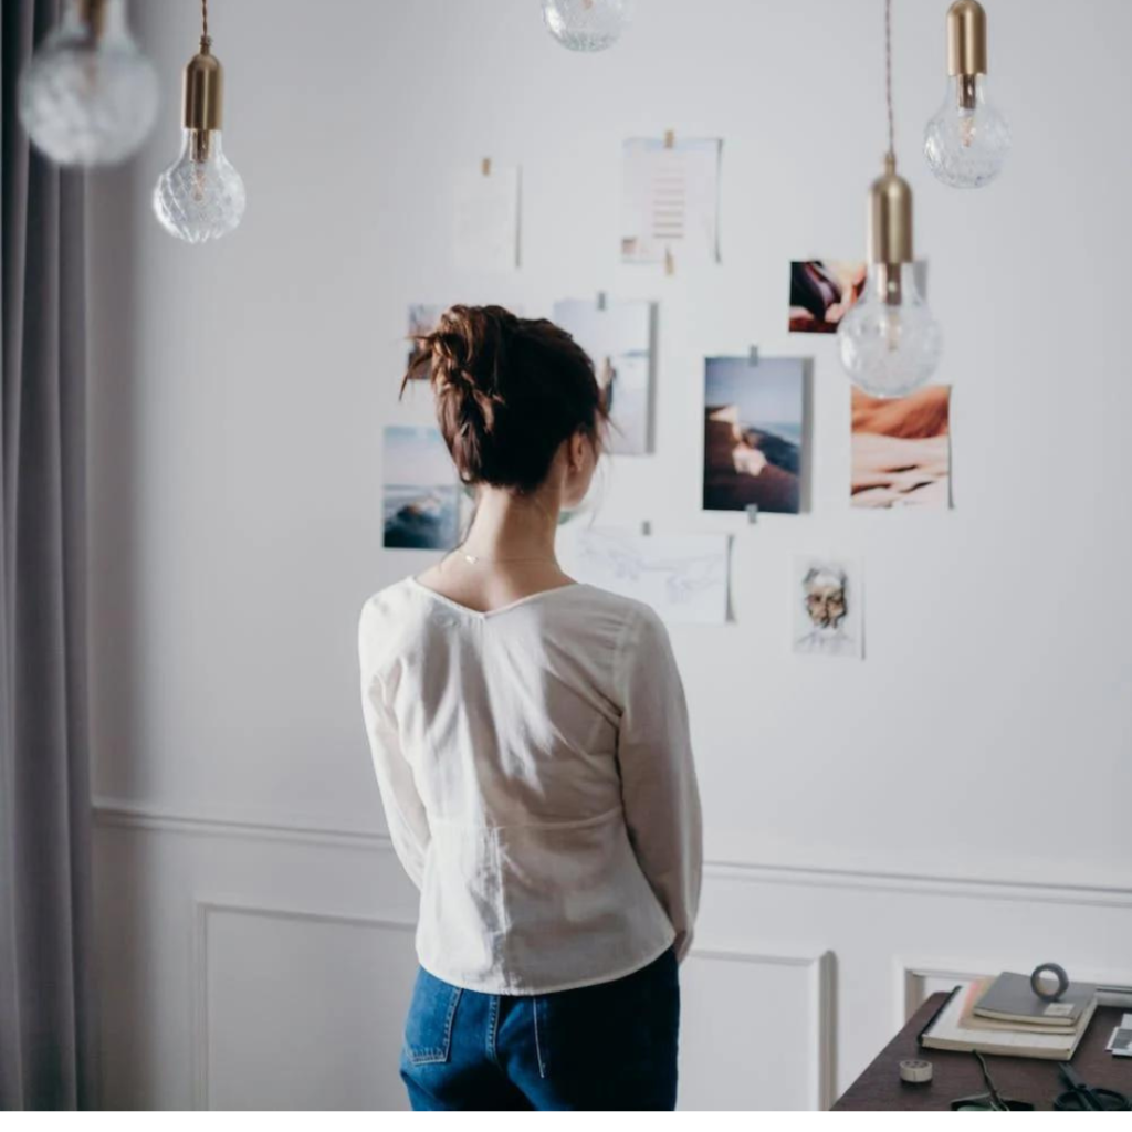
[{"label": "large blurred glass bulb at top left, overlapping the grey curtain", "polygon": [[126,0],[67,0],[19,78],[19,119],[60,165],[108,165],[145,140],[157,77],[126,23]]}]

